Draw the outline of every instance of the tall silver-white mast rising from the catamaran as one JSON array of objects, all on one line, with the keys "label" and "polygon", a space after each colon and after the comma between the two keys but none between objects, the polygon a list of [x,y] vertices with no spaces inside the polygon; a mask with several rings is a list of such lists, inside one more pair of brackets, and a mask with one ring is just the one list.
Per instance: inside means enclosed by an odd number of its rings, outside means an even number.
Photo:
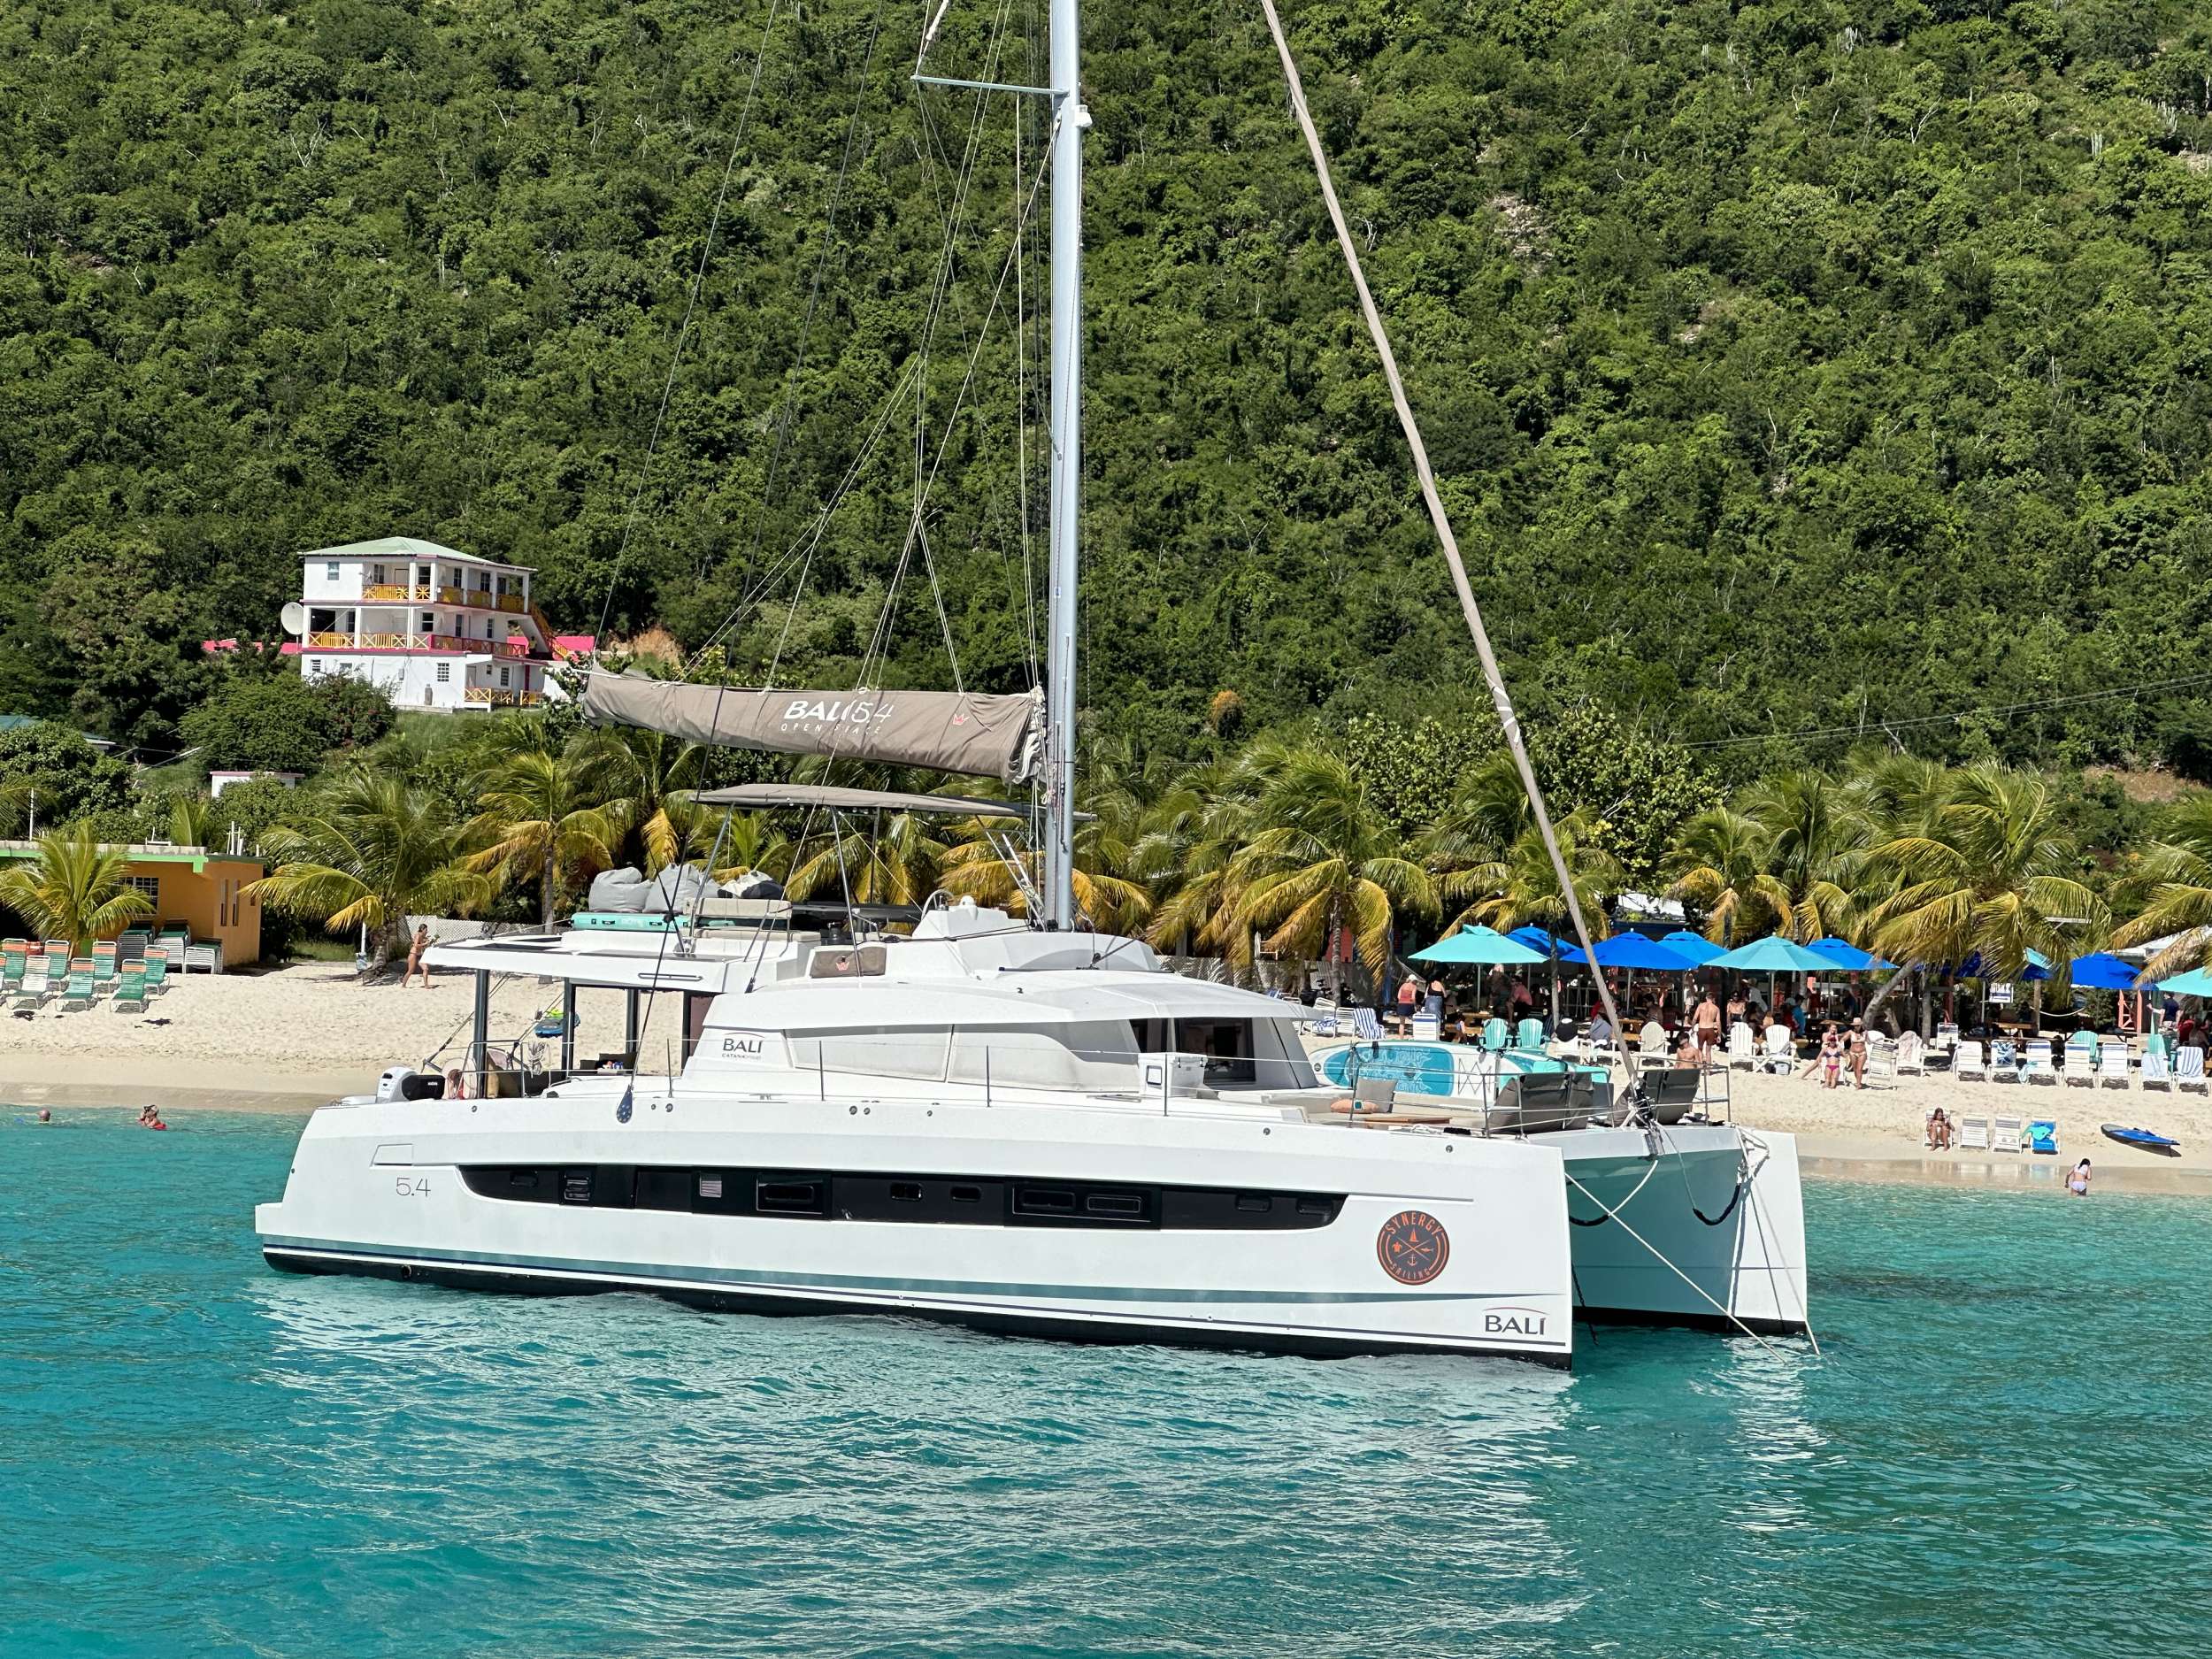
[{"label": "tall silver-white mast rising from the catamaran", "polygon": [[1075,557],[1084,478],[1084,157],[1075,0],[1051,0],[1053,361],[1051,562],[1044,657],[1044,925],[1075,925]]}]

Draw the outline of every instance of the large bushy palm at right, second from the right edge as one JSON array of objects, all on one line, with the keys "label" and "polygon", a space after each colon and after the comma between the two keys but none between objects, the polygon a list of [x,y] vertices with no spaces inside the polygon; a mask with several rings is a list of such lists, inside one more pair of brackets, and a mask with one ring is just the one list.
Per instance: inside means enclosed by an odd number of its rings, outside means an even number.
[{"label": "large bushy palm at right, second from the right edge", "polygon": [[1955,774],[1924,825],[1867,849],[1896,891],[1871,911],[1876,949],[1900,962],[1964,962],[2017,978],[2028,951],[2064,953],[2066,927],[2097,929],[2104,900],[2081,885],[2075,847],[2042,779],[1975,765]]}]

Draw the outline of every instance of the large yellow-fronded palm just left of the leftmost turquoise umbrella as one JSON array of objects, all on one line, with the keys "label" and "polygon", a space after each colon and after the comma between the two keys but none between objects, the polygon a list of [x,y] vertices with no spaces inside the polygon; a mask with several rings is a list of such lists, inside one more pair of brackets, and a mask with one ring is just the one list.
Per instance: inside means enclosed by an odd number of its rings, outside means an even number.
[{"label": "large yellow-fronded palm just left of the leftmost turquoise umbrella", "polygon": [[1256,834],[1230,858],[1239,931],[1267,949],[1318,958],[1349,925],[1360,960],[1380,973],[1398,914],[1433,916],[1436,880],[1405,856],[1352,765],[1327,750],[1283,754],[1254,805]]}]

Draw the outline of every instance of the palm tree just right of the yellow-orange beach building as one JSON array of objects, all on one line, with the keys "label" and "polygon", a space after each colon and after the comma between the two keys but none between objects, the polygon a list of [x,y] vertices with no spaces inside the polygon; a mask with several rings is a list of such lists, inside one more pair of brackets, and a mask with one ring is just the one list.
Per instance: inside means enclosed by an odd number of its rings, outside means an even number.
[{"label": "palm tree just right of the yellow-orange beach building", "polygon": [[495,894],[467,867],[465,834],[436,801],[361,761],[261,847],[276,867],[246,891],[332,933],[365,927],[372,973],[405,949],[409,916],[469,916]]}]

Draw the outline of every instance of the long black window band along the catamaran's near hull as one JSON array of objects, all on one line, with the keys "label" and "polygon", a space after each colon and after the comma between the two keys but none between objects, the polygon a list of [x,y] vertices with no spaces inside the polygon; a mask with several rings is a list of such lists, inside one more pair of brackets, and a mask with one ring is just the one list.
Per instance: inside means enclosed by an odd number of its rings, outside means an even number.
[{"label": "long black window band along the catamaran's near hull", "polygon": [[1296,1232],[1327,1228],[1345,1208],[1340,1192],[1000,1181],[964,1175],[668,1170],[630,1164],[465,1166],[460,1179],[469,1192],[509,1203],[967,1228]]}]

